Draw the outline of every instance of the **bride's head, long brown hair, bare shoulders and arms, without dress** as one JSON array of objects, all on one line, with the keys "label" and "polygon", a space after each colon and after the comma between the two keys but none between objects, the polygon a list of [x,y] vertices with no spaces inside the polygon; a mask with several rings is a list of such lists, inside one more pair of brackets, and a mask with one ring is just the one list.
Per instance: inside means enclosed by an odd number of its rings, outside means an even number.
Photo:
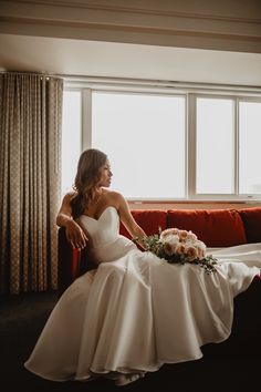
[{"label": "bride's head, long brown hair, bare shoulders and arms, without dress", "polygon": [[[106,207],[114,207],[119,219],[134,237],[144,237],[144,230],[129,214],[125,198],[116,192],[109,192],[112,172],[107,156],[97,149],[87,149],[79,161],[75,178],[75,192],[65,195],[58,214],[58,226],[65,226],[66,237],[75,248],[84,248],[88,236],[84,225],[76,223],[81,215],[97,219]],[[73,217],[73,219],[72,219]]]}]

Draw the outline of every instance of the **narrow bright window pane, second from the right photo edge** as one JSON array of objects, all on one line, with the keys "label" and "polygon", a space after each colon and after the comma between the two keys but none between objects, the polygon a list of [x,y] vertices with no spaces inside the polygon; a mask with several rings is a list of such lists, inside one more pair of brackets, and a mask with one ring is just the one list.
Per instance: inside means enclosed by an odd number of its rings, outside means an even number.
[{"label": "narrow bright window pane, second from the right photo edge", "polygon": [[233,101],[197,99],[197,194],[234,193]]}]

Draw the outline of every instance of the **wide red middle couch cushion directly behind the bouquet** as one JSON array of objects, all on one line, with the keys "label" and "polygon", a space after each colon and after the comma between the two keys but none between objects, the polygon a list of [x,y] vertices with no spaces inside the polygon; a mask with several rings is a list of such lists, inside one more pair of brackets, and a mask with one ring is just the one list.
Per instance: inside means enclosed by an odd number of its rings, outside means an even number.
[{"label": "wide red middle couch cushion directly behind the bouquet", "polygon": [[247,243],[243,223],[236,209],[173,209],[168,227],[194,231],[208,247]]}]

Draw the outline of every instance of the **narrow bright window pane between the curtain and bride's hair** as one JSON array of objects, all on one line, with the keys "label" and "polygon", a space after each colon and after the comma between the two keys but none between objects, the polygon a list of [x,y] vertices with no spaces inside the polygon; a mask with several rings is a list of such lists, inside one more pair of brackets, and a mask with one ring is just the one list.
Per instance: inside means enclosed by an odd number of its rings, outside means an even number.
[{"label": "narrow bright window pane between the curtain and bride's hair", "polygon": [[72,189],[81,153],[81,92],[63,94],[62,194]]}]

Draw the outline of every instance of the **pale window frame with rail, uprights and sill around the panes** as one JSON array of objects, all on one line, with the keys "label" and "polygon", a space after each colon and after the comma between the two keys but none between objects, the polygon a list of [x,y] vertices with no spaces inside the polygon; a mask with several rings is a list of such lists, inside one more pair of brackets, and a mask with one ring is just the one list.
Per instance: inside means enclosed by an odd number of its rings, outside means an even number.
[{"label": "pale window frame with rail, uprights and sill around the panes", "polygon": [[[170,84],[170,85],[168,85]],[[185,197],[184,198],[127,198],[135,203],[175,203],[175,202],[260,202],[261,194],[239,195],[239,102],[261,103],[261,89],[227,86],[197,83],[173,83],[160,81],[133,81],[103,78],[65,79],[65,91],[81,91],[82,96],[82,151],[92,146],[92,92],[137,93],[153,95],[171,95],[185,97]],[[197,97],[229,99],[233,101],[234,116],[234,194],[196,194],[197,163]]]}]

